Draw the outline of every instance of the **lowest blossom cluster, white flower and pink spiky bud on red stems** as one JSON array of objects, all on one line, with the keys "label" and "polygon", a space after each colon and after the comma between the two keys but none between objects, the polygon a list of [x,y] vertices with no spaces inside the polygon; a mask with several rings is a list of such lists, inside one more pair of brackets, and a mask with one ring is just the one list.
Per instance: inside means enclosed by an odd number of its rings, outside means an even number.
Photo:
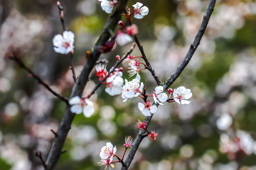
[{"label": "lowest blossom cluster, white flower and pink spiky bud on red stems", "polygon": [[107,169],[108,166],[115,168],[115,165],[111,164],[111,162],[120,162],[120,161],[113,161],[113,157],[116,156],[119,160],[123,161],[126,150],[128,149],[128,147],[132,147],[134,143],[135,143],[135,140],[131,136],[125,137],[125,144],[123,145],[125,146],[125,152],[123,154],[122,159],[120,159],[115,154],[117,152],[116,146],[113,147],[113,144],[111,144],[110,142],[106,143],[106,146],[103,146],[101,148],[101,153],[100,153],[101,161],[98,163],[99,166],[104,165],[105,170]]}]

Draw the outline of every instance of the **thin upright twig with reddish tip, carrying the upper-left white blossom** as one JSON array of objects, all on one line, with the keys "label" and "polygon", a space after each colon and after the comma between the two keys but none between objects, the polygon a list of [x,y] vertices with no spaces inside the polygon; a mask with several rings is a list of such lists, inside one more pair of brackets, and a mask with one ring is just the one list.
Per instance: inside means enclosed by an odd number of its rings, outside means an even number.
[{"label": "thin upright twig with reddish tip, carrying the upper-left white blossom", "polygon": [[[65,21],[64,21],[64,12],[63,12],[63,6],[61,6],[60,1],[57,1],[57,6],[59,8],[59,14],[60,14],[60,20],[63,27],[63,31],[66,31]],[[69,60],[70,60],[70,69],[72,71],[73,80],[76,83],[76,76],[74,71],[74,63],[73,63],[73,52],[69,53]]]}]

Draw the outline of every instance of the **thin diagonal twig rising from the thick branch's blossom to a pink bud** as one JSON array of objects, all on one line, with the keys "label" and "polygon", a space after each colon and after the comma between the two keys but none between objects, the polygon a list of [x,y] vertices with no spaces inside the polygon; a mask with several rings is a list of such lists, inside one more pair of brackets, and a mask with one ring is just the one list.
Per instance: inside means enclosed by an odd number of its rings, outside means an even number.
[{"label": "thin diagonal twig rising from the thick branch's blossom to a pink bud", "polygon": [[110,76],[110,74],[115,71],[115,68],[117,68],[118,65],[119,65],[124,59],[126,59],[127,56],[133,51],[135,45],[136,45],[135,43],[132,44],[132,47],[130,48],[129,51],[127,51],[127,53],[125,54],[125,56],[122,57],[122,59],[120,59],[120,60],[118,60],[118,61],[116,62],[116,64],[111,68],[111,70],[110,70],[110,72],[108,73],[108,75],[105,76],[104,78],[102,78],[102,80],[101,80],[97,85],[95,85],[95,87],[92,89],[91,93],[88,94],[88,95],[86,96],[86,98],[89,99],[89,98],[91,97],[91,95],[96,92],[96,90],[102,85],[103,82],[105,82],[105,80]]}]

